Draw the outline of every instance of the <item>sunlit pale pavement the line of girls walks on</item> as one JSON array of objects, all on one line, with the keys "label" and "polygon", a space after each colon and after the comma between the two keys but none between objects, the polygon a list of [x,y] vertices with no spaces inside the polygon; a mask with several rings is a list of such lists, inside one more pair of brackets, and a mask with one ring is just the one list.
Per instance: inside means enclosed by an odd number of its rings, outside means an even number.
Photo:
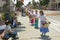
[{"label": "sunlit pale pavement the line of girls walks on", "polygon": [[[50,13],[50,12],[48,12]],[[18,29],[18,40],[60,40],[60,16],[47,16],[50,24],[50,32],[47,33],[49,37],[41,38],[41,32],[39,29],[35,29],[34,26],[31,26],[29,23],[29,18],[18,16],[18,21],[22,25]],[[40,26],[39,26],[40,27]]]}]

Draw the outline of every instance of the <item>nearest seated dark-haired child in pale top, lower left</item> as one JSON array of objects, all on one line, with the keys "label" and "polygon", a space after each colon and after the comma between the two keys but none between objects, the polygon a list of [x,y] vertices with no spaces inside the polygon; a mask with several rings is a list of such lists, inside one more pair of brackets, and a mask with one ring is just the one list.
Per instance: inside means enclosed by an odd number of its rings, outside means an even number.
[{"label": "nearest seated dark-haired child in pale top, lower left", "polygon": [[11,29],[10,21],[7,20],[5,24],[6,24],[6,28],[5,28],[5,35],[3,37],[3,40],[8,40],[10,37],[14,39],[18,39],[17,32]]}]

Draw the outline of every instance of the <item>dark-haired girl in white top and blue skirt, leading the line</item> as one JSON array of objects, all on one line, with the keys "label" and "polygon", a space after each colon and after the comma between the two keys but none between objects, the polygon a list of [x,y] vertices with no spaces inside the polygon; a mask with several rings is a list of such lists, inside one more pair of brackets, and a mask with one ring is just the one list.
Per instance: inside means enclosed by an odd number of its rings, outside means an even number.
[{"label": "dark-haired girl in white top and blue skirt, leading the line", "polygon": [[44,15],[43,11],[40,11],[40,32],[42,32],[42,35],[44,36],[47,32],[49,32],[48,27],[44,27],[43,25],[46,23],[46,16]]}]

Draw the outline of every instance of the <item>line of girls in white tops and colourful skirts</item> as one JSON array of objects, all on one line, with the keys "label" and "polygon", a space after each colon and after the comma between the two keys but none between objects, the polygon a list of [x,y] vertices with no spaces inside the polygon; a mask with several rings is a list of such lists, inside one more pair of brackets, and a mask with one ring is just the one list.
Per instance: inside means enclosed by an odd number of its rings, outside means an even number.
[{"label": "line of girls in white tops and colourful skirts", "polygon": [[42,35],[45,35],[47,32],[49,32],[48,26],[50,22],[44,15],[43,11],[38,12],[37,10],[35,10],[34,12],[33,10],[28,10],[28,13],[30,23],[32,26],[35,26],[35,29],[39,28],[38,24],[40,19],[40,32],[42,32]]}]

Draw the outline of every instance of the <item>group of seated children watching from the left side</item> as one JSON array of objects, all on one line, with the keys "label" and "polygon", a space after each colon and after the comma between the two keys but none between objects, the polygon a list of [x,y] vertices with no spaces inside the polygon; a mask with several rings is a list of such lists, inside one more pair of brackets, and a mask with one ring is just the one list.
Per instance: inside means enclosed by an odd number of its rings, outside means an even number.
[{"label": "group of seated children watching from the left side", "polygon": [[14,28],[17,27],[17,17],[16,17],[16,15],[11,19],[11,21],[5,20],[3,23],[4,24],[2,24],[2,26],[5,25],[5,28],[0,30],[0,35],[4,34],[3,37],[1,36],[1,38],[3,40],[8,40],[10,37],[12,37],[12,40],[18,39],[17,31],[14,29]]}]

